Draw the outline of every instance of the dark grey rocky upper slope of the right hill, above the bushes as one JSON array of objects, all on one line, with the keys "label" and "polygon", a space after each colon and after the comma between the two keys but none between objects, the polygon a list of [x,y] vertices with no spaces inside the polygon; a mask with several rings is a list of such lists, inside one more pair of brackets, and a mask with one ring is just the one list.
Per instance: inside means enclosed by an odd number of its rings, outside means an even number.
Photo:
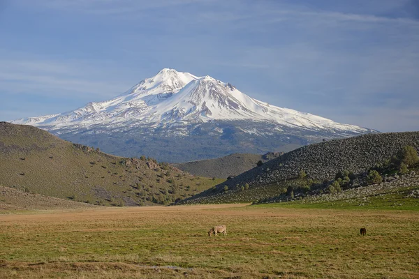
[{"label": "dark grey rocky upper slope of the right hill, above the bushes", "polygon": [[208,202],[212,196],[222,195],[226,187],[240,190],[240,186],[246,184],[249,190],[240,193],[240,198],[226,193],[231,197],[224,202],[234,202],[237,199],[253,201],[278,195],[284,188],[284,183],[297,179],[301,171],[310,179],[320,181],[333,179],[342,170],[359,174],[395,156],[406,145],[419,150],[419,132],[369,134],[303,146],[184,202]]}]

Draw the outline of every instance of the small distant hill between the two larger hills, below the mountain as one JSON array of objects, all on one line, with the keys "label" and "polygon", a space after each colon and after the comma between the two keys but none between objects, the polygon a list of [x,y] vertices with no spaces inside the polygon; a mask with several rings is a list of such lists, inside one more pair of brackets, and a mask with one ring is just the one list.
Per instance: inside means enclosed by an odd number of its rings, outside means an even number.
[{"label": "small distant hill between the two larger hills, below the mountain", "polygon": [[259,161],[266,163],[268,160],[272,160],[283,154],[284,152],[269,152],[264,155],[234,153],[221,158],[179,163],[173,164],[173,166],[197,176],[226,179],[229,176],[237,176],[243,172],[247,172],[249,169],[253,169]]}]

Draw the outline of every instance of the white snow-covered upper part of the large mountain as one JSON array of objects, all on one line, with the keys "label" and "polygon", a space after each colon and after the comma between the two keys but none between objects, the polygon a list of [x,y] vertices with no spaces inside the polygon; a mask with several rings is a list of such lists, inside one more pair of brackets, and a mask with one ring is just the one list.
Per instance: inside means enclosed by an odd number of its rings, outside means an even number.
[{"label": "white snow-covered upper part of the large mountain", "polygon": [[[358,126],[336,123],[321,116],[276,107],[255,100],[228,83],[212,77],[196,77],[172,69],[142,80],[120,96],[89,103],[71,112],[11,121],[47,130],[142,124],[170,127],[209,121],[268,122],[282,128],[328,130],[331,133],[368,133]],[[255,133],[254,130],[244,132]],[[185,132],[182,132],[182,135]]]}]

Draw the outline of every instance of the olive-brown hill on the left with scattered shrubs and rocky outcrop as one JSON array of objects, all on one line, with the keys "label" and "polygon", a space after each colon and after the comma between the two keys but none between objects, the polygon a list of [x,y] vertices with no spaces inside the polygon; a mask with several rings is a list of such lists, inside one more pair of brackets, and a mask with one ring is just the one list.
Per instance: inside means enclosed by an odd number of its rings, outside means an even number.
[{"label": "olive-brown hill on the left with scattered shrubs and rocky outcrop", "polygon": [[0,185],[90,204],[167,204],[223,180],[152,158],[110,156],[33,126],[0,122]]}]

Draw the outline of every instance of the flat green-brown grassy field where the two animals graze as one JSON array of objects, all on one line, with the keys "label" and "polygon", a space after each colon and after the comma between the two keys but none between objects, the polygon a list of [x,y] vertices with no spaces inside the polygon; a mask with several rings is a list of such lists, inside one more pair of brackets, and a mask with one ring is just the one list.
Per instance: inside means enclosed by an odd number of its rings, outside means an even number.
[{"label": "flat green-brown grassy field where the two animals graze", "polygon": [[0,278],[419,278],[412,210],[98,207],[0,223]]}]

